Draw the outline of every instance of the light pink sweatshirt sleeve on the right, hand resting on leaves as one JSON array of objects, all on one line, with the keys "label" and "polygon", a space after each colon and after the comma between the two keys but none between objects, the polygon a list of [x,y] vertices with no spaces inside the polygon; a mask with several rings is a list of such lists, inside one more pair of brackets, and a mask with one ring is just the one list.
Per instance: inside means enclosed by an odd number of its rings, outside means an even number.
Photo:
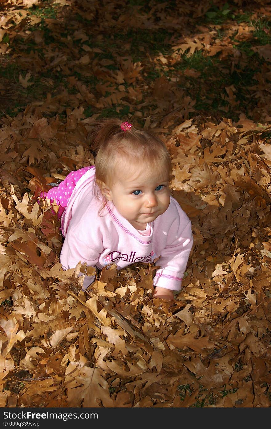
[{"label": "light pink sweatshirt sleeve on the right, hand resting on leaves", "polygon": [[[177,207],[176,207],[177,208]],[[154,287],[181,290],[181,282],[187,267],[187,261],[193,246],[191,222],[181,208],[177,208],[172,225],[169,228],[166,247],[155,265],[160,266],[154,277]]]}]

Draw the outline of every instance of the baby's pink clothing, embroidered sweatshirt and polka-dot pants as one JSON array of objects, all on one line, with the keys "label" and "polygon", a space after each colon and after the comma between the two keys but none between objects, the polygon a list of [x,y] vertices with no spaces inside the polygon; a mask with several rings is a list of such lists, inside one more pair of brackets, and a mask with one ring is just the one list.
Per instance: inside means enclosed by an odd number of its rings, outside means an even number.
[{"label": "baby's pink clothing, embroidered sweatshirt and polka-dot pants", "polygon": [[[193,235],[191,222],[178,202],[170,197],[165,213],[148,224],[146,231],[138,231],[110,201],[99,215],[102,201],[93,194],[95,167],[85,167],[78,172],[69,173],[62,182],[71,193],[61,219],[65,237],[60,254],[63,269],[75,268],[81,261],[98,269],[114,263],[119,270],[135,262],[153,262],[160,256],[156,262],[160,268],[154,277],[154,286],[181,290]],[[73,190],[70,187],[72,174],[80,177],[72,186]],[[59,195],[59,191],[57,193]],[[84,288],[93,281],[94,276],[86,275]]]}]

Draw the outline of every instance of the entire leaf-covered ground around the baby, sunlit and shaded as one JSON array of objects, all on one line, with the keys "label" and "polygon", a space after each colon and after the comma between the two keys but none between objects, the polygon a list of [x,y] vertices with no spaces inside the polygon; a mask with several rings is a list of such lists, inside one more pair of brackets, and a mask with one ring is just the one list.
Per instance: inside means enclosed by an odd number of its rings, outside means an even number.
[{"label": "entire leaf-covered ground around the baby, sunlit and shaded", "polygon": [[[0,0],[1,407],[270,407],[268,3]],[[38,195],[108,116],[172,156],[194,233],[174,302],[154,266],[84,293],[59,263]]]}]

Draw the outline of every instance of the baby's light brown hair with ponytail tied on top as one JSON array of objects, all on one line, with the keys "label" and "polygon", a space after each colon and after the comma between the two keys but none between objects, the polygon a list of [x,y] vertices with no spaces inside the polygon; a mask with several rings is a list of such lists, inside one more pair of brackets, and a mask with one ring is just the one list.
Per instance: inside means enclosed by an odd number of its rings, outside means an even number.
[{"label": "baby's light brown hair with ponytail tied on top", "polygon": [[[114,184],[114,171],[121,158],[133,164],[148,162],[155,171],[168,171],[169,183],[172,181],[172,163],[166,145],[158,137],[135,127],[123,131],[122,121],[116,118],[101,119],[94,124],[91,133],[91,149],[96,167],[94,195],[101,197],[101,184]],[[103,207],[106,199],[102,196]]]}]

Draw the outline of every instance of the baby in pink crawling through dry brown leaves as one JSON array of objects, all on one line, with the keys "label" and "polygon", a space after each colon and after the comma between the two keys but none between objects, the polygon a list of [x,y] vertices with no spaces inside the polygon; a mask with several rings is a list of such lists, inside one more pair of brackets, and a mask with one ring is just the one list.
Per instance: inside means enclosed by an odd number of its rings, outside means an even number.
[{"label": "baby in pink crawling through dry brown leaves", "polygon": [[[102,269],[133,263],[160,267],[154,297],[174,299],[193,244],[191,222],[170,196],[172,164],[164,143],[117,119],[98,121],[95,166],[70,172],[47,197],[59,205],[63,269],[78,262]],[[85,275],[86,289],[94,276]]]}]

